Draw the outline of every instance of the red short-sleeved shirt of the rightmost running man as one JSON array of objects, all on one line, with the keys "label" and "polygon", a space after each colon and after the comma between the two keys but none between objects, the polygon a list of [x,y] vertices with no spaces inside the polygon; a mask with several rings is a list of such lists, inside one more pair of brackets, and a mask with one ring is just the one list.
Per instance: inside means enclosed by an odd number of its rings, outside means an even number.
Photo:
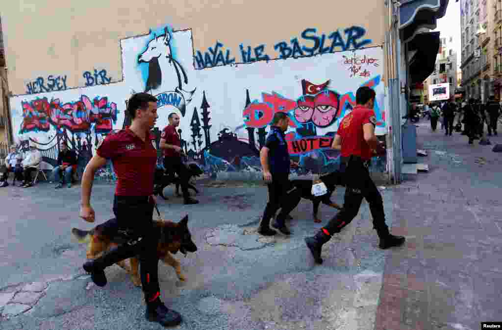
[{"label": "red short-sleeved shirt of the rightmost running man", "polygon": [[343,117],[338,127],[337,135],[342,138],[342,157],[350,155],[359,156],[363,160],[369,160],[372,156],[371,148],[364,140],[362,125],[376,123],[375,113],[372,109],[357,105],[352,111]]}]

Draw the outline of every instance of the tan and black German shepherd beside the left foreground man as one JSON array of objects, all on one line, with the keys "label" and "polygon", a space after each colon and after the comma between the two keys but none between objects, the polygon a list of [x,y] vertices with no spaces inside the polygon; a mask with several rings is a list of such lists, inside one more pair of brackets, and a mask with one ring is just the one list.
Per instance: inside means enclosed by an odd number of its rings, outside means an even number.
[{"label": "tan and black German shepherd beside the left foreground man", "polygon": [[[112,221],[110,219],[109,221]],[[180,262],[171,254],[176,254],[178,251],[186,257],[187,252],[197,251],[197,246],[192,241],[190,230],[188,230],[188,216],[181,219],[180,222],[174,223],[169,220],[154,220],[154,227],[160,231],[160,240],[157,245],[157,253],[159,259],[170,265],[176,271],[179,280],[184,282],[185,276],[181,273]],[[120,244],[126,244],[129,240],[126,236],[121,235],[121,231],[117,231],[116,235],[110,237],[103,234],[103,224],[94,227],[89,231],[72,228],[71,233],[79,243],[88,243],[87,259],[98,258],[103,252]],[[118,266],[125,269],[130,275],[134,285],[141,286],[141,279],[138,273],[139,259],[133,257],[129,259],[131,267],[122,260],[117,263]]]}]

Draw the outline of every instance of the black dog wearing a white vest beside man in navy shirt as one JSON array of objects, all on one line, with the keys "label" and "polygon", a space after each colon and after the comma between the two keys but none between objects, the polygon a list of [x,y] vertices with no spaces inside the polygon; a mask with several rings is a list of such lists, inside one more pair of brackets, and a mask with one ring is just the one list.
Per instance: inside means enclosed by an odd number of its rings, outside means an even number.
[{"label": "black dog wearing a white vest beside man in navy shirt", "polygon": [[312,201],[314,222],[320,223],[321,220],[317,217],[319,211],[319,204],[323,203],[332,208],[340,210],[342,207],[336,203],[331,202],[331,195],[336,189],[336,186],[344,186],[342,183],[342,174],[339,171],[319,177],[319,179],[326,185],[328,192],[322,196],[312,195],[312,180],[291,180],[293,186],[296,187],[301,193],[302,198]]}]

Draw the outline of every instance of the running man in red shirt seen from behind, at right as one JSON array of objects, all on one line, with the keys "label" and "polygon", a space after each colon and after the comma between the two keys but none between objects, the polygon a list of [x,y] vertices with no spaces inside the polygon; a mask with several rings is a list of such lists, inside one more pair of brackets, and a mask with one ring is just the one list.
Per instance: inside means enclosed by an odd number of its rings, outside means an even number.
[{"label": "running man in red shirt seen from behind, at right", "polygon": [[340,122],[333,139],[333,149],[341,150],[340,170],[345,172],[345,196],[342,210],[314,237],[305,238],[307,247],[317,263],[322,263],[321,248],[331,236],[339,233],[359,212],[362,199],[366,199],[373,218],[373,228],[380,238],[381,249],[399,246],[405,242],[402,236],[394,236],[385,223],[382,195],[369,176],[369,160],[373,150],[385,153],[374,134],[376,118],[373,111],[375,92],[369,87],[360,87],[356,92],[354,109]]}]

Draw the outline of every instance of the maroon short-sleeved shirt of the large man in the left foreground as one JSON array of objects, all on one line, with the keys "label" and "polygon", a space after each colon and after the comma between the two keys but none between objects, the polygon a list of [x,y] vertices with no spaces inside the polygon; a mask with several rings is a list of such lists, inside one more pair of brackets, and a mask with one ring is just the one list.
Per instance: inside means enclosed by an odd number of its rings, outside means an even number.
[{"label": "maroon short-sleeved shirt of the large man in the left foreground", "polygon": [[103,158],[110,159],[118,182],[117,196],[150,196],[153,194],[157,151],[151,135],[146,141],[126,128],[106,136],[96,150]]}]

